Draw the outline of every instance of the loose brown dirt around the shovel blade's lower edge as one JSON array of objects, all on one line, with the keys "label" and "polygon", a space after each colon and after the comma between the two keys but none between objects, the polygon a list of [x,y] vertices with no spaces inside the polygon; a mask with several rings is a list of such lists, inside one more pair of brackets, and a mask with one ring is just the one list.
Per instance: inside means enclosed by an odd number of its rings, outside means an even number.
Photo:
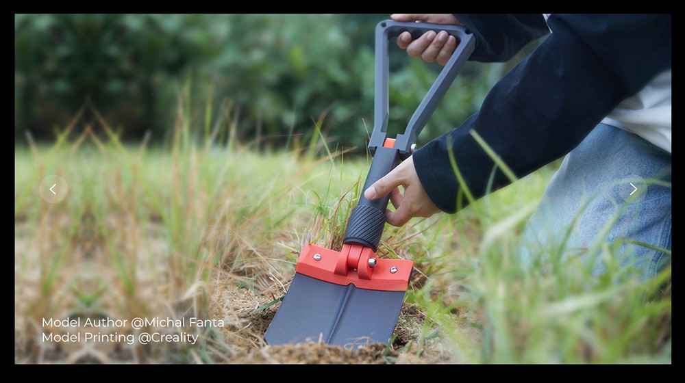
[{"label": "loose brown dirt around the shovel blade's lower edge", "polygon": [[[225,362],[231,363],[286,363],[286,364],[382,364],[382,363],[449,363],[455,362],[440,341],[428,342],[420,354],[416,344],[421,336],[425,314],[415,306],[405,304],[395,328],[391,347],[384,344],[364,345],[354,351],[323,343],[269,346],[264,343],[264,332],[269,327],[279,304],[262,311],[256,308],[282,296],[282,287],[261,296],[242,289],[229,278],[217,278],[212,283],[210,317],[230,318],[231,326],[221,331],[223,341],[233,353]],[[414,352],[406,347],[414,344]]]}]

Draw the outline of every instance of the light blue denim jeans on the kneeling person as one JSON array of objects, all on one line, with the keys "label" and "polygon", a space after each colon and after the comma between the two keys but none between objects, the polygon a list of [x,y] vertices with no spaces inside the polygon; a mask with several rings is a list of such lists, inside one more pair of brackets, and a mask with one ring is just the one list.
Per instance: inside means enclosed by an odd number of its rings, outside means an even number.
[{"label": "light blue denim jeans on the kneeling person", "polygon": [[671,261],[659,248],[671,250],[671,154],[599,124],[564,158],[519,250],[527,262],[562,254],[593,276],[610,265],[646,280]]}]

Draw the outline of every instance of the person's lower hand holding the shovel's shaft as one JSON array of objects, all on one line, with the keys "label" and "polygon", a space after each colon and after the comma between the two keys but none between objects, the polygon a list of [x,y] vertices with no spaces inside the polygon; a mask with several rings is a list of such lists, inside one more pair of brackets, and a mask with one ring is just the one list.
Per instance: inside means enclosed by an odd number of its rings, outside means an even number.
[{"label": "person's lower hand holding the shovel's shaft", "polygon": [[[399,192],[399,185],[404,187],[404,195]],[[396,210],[386,211],[386,220],[393,226],[402,226],[412,217],[430,217],[440,211],[423,189],[411,156],[364,190],[364,197],[369,200],[388,194]]]}]

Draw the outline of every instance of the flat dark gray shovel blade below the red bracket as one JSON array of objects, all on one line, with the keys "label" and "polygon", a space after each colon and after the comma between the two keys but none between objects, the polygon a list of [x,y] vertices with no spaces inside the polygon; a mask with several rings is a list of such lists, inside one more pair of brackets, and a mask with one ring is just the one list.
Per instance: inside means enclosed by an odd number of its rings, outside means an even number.
[{"label": "flat dark gray shovel blade below the red bracket", "polygon": [[336,285],[295,273],[264,339],[271,345],[321,341],[349,349],[388,343],[405,293]]}]

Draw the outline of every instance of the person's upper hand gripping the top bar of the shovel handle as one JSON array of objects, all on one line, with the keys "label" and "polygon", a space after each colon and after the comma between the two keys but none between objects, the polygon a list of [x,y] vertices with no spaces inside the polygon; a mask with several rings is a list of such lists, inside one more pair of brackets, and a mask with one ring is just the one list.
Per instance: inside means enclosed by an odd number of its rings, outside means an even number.
[{"label": "person's upper hand gripping the top bar of the shovel handle", "polygon": [[[393,14],[390,16],[395,21],[416,21],[433,24],[463,25],[453,14]],[[447,64],[454,50],[457,49],[457,39],[449,36],[446,31],[427,31],[416,40],[412,40],[412,34],[402,32],[397,36],[397,46],[406,49],[410,57],[419,57],[425,62],[437,61],[440,65]]]}]

